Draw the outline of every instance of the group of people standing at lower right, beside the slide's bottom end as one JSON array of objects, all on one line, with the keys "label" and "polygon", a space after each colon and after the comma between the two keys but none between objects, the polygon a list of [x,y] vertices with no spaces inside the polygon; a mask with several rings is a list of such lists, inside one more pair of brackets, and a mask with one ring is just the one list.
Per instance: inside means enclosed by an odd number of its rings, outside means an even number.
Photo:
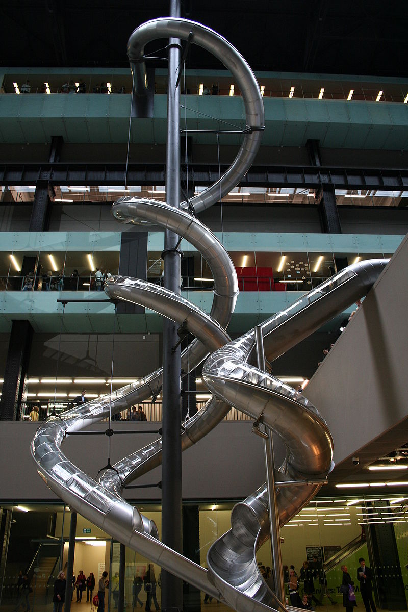
[{"label": "group of people standing at lower right, beside the slide's bottom end", "polygon": [[[357,580],[360,583],[360,593],[362,594],[363,603],[366,612],[377,612],[376,605],[373,599],[373,570],[365,564],[365,559],[358,559],[360,567],[357,569]],[[332,596],[327,592],[327,580],[325,578],[322,561],[318,561],[316,556],[313,556],[312,561],[303,561],[300,577],[298,577],[294,565],[290,569],[284,565],[284,578],[289,591],[291,605],[304,610],[314,610],[314,606],[322,605],[324,595],[328,600],[335,605],[337,602],[332,599]],[[341,565],[343,572],[341,585],[339,590],[343,594],[343,606],[346,612],[352,612],[355,601],[354,581],[347,570],[347,565]],[[263,575],[263,573],[262,573]],[[316,589],[314,588],[314,579],[319,580],[321,585],[321,596],[317,599],[315,596]],[[299,581],[303,581],[303,596],[299,595]]]}]

